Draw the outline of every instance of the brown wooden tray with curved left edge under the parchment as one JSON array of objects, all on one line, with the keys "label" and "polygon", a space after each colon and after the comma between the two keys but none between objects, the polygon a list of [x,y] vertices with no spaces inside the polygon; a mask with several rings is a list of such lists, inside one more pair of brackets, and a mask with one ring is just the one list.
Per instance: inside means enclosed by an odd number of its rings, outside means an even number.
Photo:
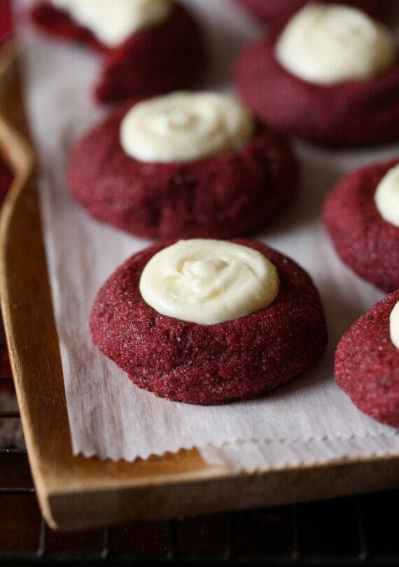
[{"label": "brown wooden tray with curved left edge under the parchment", "polygon": [[73,456],[17,58],[12,44],[0,56],[0,146],[15,172],[1,213],[1,302],[31,472],[48,524],[72,530],[399,486],[399,458],[232,474],[207,465],[195,450],[134,463]]}]

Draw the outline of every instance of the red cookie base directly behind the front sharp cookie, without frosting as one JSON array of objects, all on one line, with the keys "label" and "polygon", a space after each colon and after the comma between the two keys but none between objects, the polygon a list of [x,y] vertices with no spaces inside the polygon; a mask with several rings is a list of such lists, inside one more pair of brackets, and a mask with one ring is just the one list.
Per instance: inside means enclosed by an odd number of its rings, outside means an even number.
[{"label": "red cookie base directly behind the front sharp cookie, without frosting", "polygon": [[181,163],[146,163],[120,146],[124,105],[71,156],[73,196],[92,217],[148,238],[228,238],[272,221],[290,203],[298,166],[286,140],[259,123],[237,151]]}]

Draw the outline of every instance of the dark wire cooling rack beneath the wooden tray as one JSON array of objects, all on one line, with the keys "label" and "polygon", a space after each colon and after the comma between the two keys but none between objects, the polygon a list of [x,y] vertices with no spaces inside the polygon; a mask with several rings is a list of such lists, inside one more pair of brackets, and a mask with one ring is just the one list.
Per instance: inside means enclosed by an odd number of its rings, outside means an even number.
[{"label": "dark wire cooling rack beneath the wooden tray", "polygon": [[[0,383],[11,383],[0,376]],[[0,412],[0,422],[19,420]],[[0,566],[398,566],[399,490],[56,533],[36,503],[25,449],[0,449]]]}]

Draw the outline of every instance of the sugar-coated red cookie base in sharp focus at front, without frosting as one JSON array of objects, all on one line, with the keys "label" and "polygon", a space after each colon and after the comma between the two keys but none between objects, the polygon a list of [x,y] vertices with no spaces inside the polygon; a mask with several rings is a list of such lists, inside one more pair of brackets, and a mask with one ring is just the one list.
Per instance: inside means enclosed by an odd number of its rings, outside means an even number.
[{"label": "sugar-coated red cookie base in sharp focus at front, without frosting", "polygon": [[323,307],[309,275],[279,252],[235,239],[272,261],[279,294],[264,309],[216,325],[161,315],[142,299],[141,272],[172,242],[134,254],[99,291],[94,344],[139,388],[177,402],[225,404],[259,397],[300,374],[327,342]]}]

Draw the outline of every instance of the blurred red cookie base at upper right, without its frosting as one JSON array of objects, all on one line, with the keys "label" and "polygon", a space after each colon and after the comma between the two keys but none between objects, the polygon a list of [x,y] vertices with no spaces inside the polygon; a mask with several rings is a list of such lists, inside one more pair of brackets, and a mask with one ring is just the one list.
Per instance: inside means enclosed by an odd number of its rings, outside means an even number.
[{"label": "blurred red cookie base at upper right, without its frosting", "polygon": [[242,100],[262,120],[326,146],[399,139],[399,62],[367,80],[316,85],[290,74],[276,60],[279,31],[246,48],[235,69]]}]

